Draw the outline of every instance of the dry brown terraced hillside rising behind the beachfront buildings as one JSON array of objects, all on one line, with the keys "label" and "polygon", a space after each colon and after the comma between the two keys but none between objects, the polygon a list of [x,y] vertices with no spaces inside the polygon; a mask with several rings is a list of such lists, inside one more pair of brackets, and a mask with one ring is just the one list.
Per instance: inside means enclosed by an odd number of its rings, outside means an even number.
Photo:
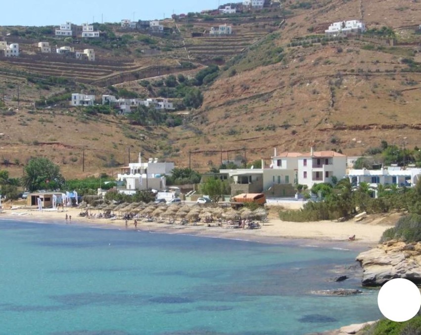
[{"label": "dry brown terraced hillside rising behind the beachfront buildings", "polygon": [[[82,174],[85,147],[87,175],[115,173],[127,164],[129,147],[131,161],[141,151],[181,166],[188,166],[192,152],[191,167],[205,171],[221,157],[268,158],[274,147],[360,155],[381,140],[420,146],[420,11],[418,3],[403,0],[286,1],[279,9],[231,17],[166,20],[173,33],[152,37],[152,44],[138,32],[109,27],[126,42],[118,52],[105,42],[94,46],[102,64],[1,59],[0,93],[4,88],[8,98],[0,117],[1,159],[15,175],[35,155],[51,158],[65,175]],[[394,45],[375,32],[361,39],[318,35],[331,22],[350,19],[363,19],[370,31],[389,27]],[[191,35],[225,23],[233,25],[230,37]],[[27,45],[38,42],[27,40]],[[186,62],[195,69],[184,67]],[[193,78],[211,63],[220,66],[218,77],[199,86],[200,108],[179,112],[182,126],[137,126],[122,116],[86,115],[59,108],[60,103],[33,107],[40,96],[66,91],[109,94],[111,84],[139,96],[159,96],[158,71]],[[48,76],[66,82],[47,87],[28,81]],[[145,79],[152,85],[142,85]]]}]

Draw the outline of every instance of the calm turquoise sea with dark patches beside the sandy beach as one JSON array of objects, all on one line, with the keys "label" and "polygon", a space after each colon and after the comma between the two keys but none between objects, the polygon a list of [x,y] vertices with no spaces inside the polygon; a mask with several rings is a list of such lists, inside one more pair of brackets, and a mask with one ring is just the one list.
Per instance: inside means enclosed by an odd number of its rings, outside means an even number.
[{"label": "calm turquoise sea with dark patches beside the sandy beach", "polygon": [[0,220],[0,334],[299,335],[381,317],[358,252]]}]

